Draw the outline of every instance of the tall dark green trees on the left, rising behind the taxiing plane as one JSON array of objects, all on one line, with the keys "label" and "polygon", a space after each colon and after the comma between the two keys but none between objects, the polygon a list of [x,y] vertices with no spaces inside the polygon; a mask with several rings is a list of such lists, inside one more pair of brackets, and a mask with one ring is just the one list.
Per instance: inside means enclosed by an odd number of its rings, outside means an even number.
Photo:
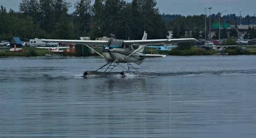
[{"label": "tall dark green trees on the left, rising behind the taxiing plane", "polygon": [[[165,37],[167,29],[156,7],[156,0],[76,0],[75,11],[68,13],[67,0],[22,0],[19,11],[0,9],[0,39],[38,38],[79,39],[116,35],[116,39]],[[27,40],[26,40],[27,41]]]}]

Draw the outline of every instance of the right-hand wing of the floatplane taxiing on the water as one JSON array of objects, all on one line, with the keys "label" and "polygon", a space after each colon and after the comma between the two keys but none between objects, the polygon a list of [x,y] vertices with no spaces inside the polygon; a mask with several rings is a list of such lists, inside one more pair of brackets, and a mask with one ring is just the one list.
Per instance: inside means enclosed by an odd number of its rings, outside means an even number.
[{"label": "right-hand wing of the floatplane taxiing on the water", "polygon": [[145,45],[145,44],[159,44],[159,43],[184,43],[184,42],[196,42],[195,38],[179,38],[179,39],[152,39],[152,40],[124,40],[125,44],[128,45]]}]

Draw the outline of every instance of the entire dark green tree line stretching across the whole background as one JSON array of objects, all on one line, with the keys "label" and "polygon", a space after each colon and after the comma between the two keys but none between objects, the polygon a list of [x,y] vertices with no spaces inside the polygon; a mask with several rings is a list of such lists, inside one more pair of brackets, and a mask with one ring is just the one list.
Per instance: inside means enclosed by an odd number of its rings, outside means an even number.
[{"label": "entire dark green tree line stretching across the whole background", "polygon": [[[69,13],[71,6],[75,11]],[[211,14],[211,23],[218,23],[218,14]],[[221,23],[239,24],[235,14],[224,15]],[[242,23],[256,20],[247,15]],[[116,35],[116,39],[141,39],[143,32],[148,39],[166,38],[167,30],[172,29],[173,38],[204,38],[205,15],[160,14],[156,0],[76,0],[74,5],[67,0],[22,0],[19,11],[6,11],[0,7],[0,39],[21,40],[79,39],[79,37],[97,37]],[[209,16],[206,21],[209,34]],[[221,39],[228,35],[237,37],[237,28],[221,29]],[[246,36],[256,37],[255,28],[250,28]],[[207,35],[208,36],[208,35]],[[218,29],[212,39],[218,39]]]}]

